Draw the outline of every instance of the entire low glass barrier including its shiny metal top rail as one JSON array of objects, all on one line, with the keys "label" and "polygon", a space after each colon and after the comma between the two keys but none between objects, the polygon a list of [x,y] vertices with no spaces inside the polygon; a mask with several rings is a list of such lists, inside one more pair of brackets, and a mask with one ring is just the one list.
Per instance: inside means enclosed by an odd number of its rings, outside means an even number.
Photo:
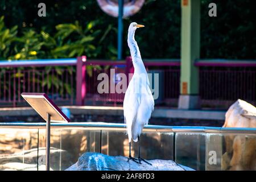
[{"label": "entire low glass barrier including its shiny metal top rail", "polygon": [[[77,161],[77,158],[84,152],[100,152],[107,155],[127,155],[127,135],[123,124],[117,123],[52,123],[51,147],[53,150],[70,152],[72,157],[67,158],[65,153],[52,154],[53,169],[65,169]],[[0,169],[6,163],[14,162],[22,155],[22,151],[28,156],[28,152],[37,149],[43,150],[45,147],[44,131],[46,123],[0,123]],[[23,131],[24,130],[24,131]],[[11,136],[11,137],[10,137]],[[6,142],[5,140],[9,142]],[[34,140],[34,142],[33,142]],[[36,142],[37,140],[37,142]],[[254,152],[250,147],[254,147],[256,142],[256,129],[253,128],[221,128],[221,127],[189,127],[189,126],[156,126],[147,125],[143,129],[142,152],[146,159],[166,159],[174,160],[176,163],[191,167],[196,170],[229,170],[236,169],[236,165],[242,166],[240,170],[253,169],[247,160],[224,164],[227,156],[233,155],[243,159],[254,159]],[[251,145],[244,145],[240,150],[248,151],[248,154],[239,152],[236,148],[228,148],[233,143],[246,140]],[[36,144],[37,143],[37,144]],[[11,146],[16,148],[16,152],[9,151]],[[84,146],[84,147],[82,147]],[[6,151],[5,149],[6,148]],[[4,149],[4,150],[3,150]],[[27,150],[27,151],[26,151]],[[238,151],[237,151],[238,150]],[[137,155],[137,147],[132,147],[133,155]],[[21,153],[20,153],[21,152]],[[38,153],[38,158],[44,156],[44,152]],[[212,154],[216,155],[214,164]],[[228,155],[226,153],[228,152]],[[237,156],[238,155],[238,156]],[[3,160],[4,159],[4,160]],[[56,161],[57,160],[57,161]],[[71,160],[71,161],[68,161]],[[67,162],[68,161],[68,162]],[[20,162],[20,161],[19,161]],[[32,159],[23,160],[23,164],[35,163]],[[53,165],[54,164],[54,165]],[[40,165],[37,163],[37,165]],[[229,168],[226,166],[230,165]],[[7,165],[8,166],[8,165]],[[60,167],[62,166],[62,168]],[[45,169],[45,168],[44,168]]]}]

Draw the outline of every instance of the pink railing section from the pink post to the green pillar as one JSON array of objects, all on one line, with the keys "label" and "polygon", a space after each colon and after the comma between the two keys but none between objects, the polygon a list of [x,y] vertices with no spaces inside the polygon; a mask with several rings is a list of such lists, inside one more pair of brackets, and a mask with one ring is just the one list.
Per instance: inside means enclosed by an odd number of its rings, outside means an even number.
[{"label": "pink railing section from the pink post to the green pillar", "polygon": [[[82,61],[80,71],[86,74],[77,77],[77,105],[122,105],[124,93],[111,93],[110,86],[108,93],[99,94],[97,91],[98,84],[101,80],[97,80],[100,73],[106,73],[109,77],[109,85],[117,84],[115,76],[118,73],[125,73],[127,78],[129,73],[133,73],[133,64],[131,58],[127,57],[125,61],[111,61],[111,60],[86,60]],[[148,72],[162,71],[163,80],[160,80],[165,85],[160,89],[164,89],[163,98],[169,100],[176,100],[179,96],[179,60],[144,60],[144,65]],[[110,69],[115,70],[115,75],[111,75]],[[89,69],[89,70],[88,70]],[[84,83],[85,80],[85,83]]]}]

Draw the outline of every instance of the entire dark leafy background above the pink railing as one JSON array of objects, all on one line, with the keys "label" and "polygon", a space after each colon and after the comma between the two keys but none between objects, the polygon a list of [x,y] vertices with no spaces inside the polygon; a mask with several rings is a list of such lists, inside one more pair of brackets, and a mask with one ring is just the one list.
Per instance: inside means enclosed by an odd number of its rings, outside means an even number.
[{"label": "entire dark leafy background above the pink railing", "polygon": [[[0,40],[0,59],[15,59],[18,53],[26,59],[81,54],[90,58],[116,59],[117,18],[105,14],[97,1],[46,0],[47,16],[41,18],[37,7],[40,2],[0,1],[0,16],[5,16],[6,23],[3,26],[1,20],[0,36],[8,37]],[[255,59],[256,11],[251,1],[216,0],[217,17],[214,18],[208,16],[210,2],[201,0],[201,57]],[[146,0],[139,13],[123,19],[123,57],[130,55],[126,38],[131,22],[146,26],[136,34],[144,58],[180,57],[180,0]],[[32,31],[34,38],[30,37]],[[18,42],[16,36],[20,39],[27,36],[31,40]],[[30,51],[36,51],[36,55],[30,55]]]}]

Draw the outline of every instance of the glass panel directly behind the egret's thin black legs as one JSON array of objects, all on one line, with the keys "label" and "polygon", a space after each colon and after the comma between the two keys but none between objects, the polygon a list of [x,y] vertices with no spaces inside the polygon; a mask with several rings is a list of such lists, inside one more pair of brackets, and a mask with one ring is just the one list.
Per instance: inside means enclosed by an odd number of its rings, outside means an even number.
[{"label": "glass panel directly behind the egret's thin black legs", "polygon": [[[144,132],[141,134],[141,157],[173,159],[173,133]],[[129,156],[129,140],[125,131],[102,131],[102,154]],[[131,142],[131,155],[137,158],[138,142]]]}]

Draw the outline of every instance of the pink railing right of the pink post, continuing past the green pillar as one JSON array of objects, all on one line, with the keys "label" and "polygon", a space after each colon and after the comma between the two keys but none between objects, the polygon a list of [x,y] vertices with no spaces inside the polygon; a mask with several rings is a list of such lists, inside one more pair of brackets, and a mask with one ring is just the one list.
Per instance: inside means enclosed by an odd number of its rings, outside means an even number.
[{"label": "pink railing right of the pink post, continuing past the green pillar", "polygon": [[[177,106],[180,93],[180,62],[178,59],[144,59],[148,72],[163,73],[163,100],[158,105]],[[117,73],[133,73],[130,57],[126,61],[88,60],[86,65],[93,67],[91,76],[86,75],[86,105],[122,104],[124,94],[98,94],[97,76],[102,73],[95,66],[115,68]],[[199,90],[202,107],[226,109],[238,98],[255,104],[256,100],[256,61],[255,60],[197,60],[199,67]],[[109,69],[105,70],[109,75]],[[110,79],[111,81],[111,79]],[[97,102],[100,101],[98,104]],[[102,102],[102,103],[101,103]],[[84,102],[82,102],[84,103]]]}]

